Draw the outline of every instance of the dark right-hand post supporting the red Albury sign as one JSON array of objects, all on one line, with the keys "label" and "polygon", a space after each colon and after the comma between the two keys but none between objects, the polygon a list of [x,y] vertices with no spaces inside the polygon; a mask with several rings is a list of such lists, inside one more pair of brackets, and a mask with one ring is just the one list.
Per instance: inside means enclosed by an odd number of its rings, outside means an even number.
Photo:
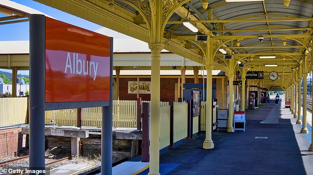
[{"label": "dark right-hand post supporting the red Albury sign", "polygon": [[112,175],[113,37],[110,49],[110,103],[102,107],[101,175]]}]

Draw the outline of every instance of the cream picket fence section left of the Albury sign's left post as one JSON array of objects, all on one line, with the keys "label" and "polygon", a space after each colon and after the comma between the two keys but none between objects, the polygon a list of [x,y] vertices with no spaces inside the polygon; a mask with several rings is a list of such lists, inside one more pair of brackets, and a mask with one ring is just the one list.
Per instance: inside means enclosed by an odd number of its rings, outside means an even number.
[{"label": "cream picket fence section left of the Albury sign's left post", "polygon": [[27,97],[0,98],[0,127],[27,123]]}]

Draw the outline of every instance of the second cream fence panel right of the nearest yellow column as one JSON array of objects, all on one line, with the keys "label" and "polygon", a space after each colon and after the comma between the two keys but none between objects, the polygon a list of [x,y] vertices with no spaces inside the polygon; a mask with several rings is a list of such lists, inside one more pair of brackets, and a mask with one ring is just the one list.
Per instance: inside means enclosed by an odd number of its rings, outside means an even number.
[{"label": "second cream fence panel right of the nearest yellow column", "polygon": [[174,142],[187,137],[188,132],[188,104],[174,103]]}]

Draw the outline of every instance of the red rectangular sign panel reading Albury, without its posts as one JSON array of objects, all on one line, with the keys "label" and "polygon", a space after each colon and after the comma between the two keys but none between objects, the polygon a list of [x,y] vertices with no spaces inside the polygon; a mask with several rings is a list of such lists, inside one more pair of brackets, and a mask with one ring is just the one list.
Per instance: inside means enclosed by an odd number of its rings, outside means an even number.
[{"label": "red rectangular sign panel reading Albury, without its posts", "polygon": [[45,18],[45,103],[110,100],[109,36]]}]

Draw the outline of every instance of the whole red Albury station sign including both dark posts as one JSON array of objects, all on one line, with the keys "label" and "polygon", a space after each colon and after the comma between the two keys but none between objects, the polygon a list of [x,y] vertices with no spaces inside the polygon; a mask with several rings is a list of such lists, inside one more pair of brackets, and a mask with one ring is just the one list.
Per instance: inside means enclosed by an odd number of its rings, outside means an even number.
[{"label": "whole red Albury station sign including both dark posts", "polygon": [[44,170],[45,110],[103,106],[101,173],[112,174],[112,75],[113,38],[30,16],[31,169]]}]

